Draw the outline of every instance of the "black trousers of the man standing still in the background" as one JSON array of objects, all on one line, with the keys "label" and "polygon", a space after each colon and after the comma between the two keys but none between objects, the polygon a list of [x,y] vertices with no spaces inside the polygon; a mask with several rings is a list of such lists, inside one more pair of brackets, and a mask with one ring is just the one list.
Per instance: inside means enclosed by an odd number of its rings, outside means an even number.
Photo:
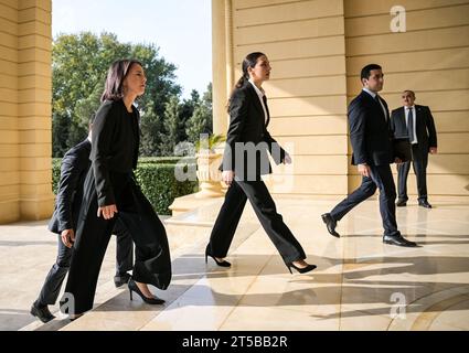
[{"label": "black trousers of the man standing still in the background", "polygon": [[[427,165],[428,152],[420,151],[417,145],[412,146],[412,167],[417,179],[418,201],[427,201]],[[397,164],[397,194],[398,200],[407,201],[407,176],[411,162]]]}]

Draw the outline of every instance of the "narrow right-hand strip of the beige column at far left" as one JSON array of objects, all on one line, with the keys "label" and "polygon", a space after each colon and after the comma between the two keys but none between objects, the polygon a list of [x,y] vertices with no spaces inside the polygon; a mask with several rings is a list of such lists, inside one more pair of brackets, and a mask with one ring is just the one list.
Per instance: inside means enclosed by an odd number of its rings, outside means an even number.
[{"label": "narrow right-hand strip of the beige column at far left", "polygon": [[18,1],[20,217],[43,220],[52,193],[52,1]]}]

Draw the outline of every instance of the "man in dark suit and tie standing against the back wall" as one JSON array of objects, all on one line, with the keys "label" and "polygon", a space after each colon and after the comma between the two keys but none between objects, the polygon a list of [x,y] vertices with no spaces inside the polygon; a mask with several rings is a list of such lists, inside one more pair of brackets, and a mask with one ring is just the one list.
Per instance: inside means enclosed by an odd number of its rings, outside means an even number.
[{"label": "man in dark suit and tie standing against the back wall", "polygon": [[[417,176],[418,205],[431,208],[427,195],[428,152],[437,153],[437,137],[430,108],[415,105],[415,93],[404,90],[404,106],[393,110],[391,129],[396,138],[408,138],[412,143],[412,165]],[[407,204],[407,175],[411,162],[397,164],[397,206]]]}]

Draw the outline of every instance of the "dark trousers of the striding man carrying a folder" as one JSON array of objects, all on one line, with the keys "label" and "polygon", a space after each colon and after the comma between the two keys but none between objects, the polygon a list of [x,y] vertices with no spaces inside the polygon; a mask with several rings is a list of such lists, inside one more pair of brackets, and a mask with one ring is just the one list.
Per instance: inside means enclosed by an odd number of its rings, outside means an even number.
[{"label": "dark trousers of the striding man carrying a folder", "polygon": [[396,223],[396,188],[390,164],[370,165],[371,178],[363,176],[362,184],[347,199],[341,201],[331,212],[335,221],[342,217],[362,201],[374,195],[376,188],[380,189],[380,213],[383,221],[384,235],[398,235]]}]

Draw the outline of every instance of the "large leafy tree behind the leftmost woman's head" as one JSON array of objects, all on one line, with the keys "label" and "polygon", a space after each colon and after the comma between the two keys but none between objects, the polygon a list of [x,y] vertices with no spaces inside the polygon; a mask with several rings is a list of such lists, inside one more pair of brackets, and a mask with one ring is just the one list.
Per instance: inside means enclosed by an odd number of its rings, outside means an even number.
[{"label": "large leafy tree behind the leftmost woman's head", "polygon": [[82,141],[89,117],[99,107],[109,65],[117,58],[135,57],[147,75],[146,94],[138,100],[142,118],[156,120],[164,114],[166,103],[179,95],[175,66],[158,54],[153,44],[120,43],[111,33],[99,36],[83,32],[60,35],[52,49],[53,156]]}]

